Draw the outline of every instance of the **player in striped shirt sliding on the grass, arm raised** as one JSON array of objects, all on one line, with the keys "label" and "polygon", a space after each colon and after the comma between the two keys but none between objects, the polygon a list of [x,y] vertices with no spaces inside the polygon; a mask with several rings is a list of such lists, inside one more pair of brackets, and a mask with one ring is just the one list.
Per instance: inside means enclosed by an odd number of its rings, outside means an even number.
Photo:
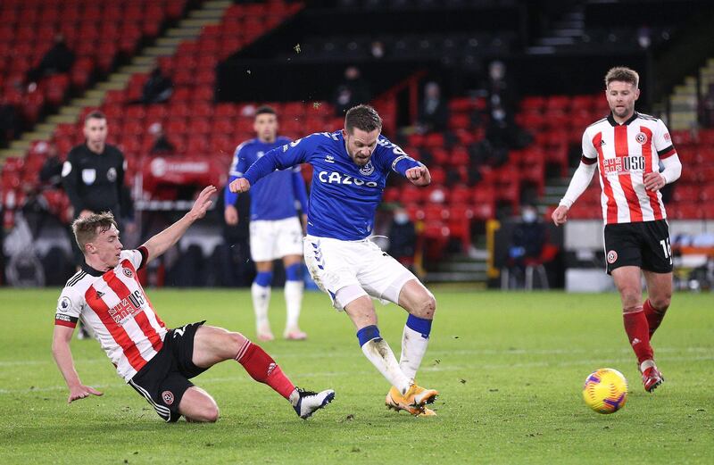
[{"label": "player in striped shirt sliding on the grass, arm raised", "polygon": [[261,347],[245,336],[204,321],[167,329],[137,278],[137,270],[175,245],[211,206],[215,187],[203,189],[182,219],[137,250],[122,250],[112,213],[92,213],[72,223],[85,262],[62,289],[54,317],[52,352],[70,388],[68,403],[102,395],[79,380],[70,350],[79,319],[92,328],[121,378],[152,404],[167,422],[181,415],[191,421],[216,421],[218,405],[189,378],[220,361],[235,360],[248,374],[285,397],[305,419],[332,401],[332,390],[298,389]]}]

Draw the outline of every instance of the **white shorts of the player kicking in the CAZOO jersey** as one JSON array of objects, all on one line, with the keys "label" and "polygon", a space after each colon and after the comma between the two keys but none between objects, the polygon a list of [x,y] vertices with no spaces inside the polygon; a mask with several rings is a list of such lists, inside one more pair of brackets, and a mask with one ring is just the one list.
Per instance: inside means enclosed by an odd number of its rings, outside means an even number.
[{"label": "white shorts of the player kicking in the CAZOO jersey", "polygon": [[359,286],[371,297],[383,303],[399,304],[399,292],[404,284],[417,279],[390,255],[382,252],[369,239],[342,241],[328,237],[307,236],[303,239],[304,256],[311,278],[332,300],[338,310],[360,295],[350,293],[346,302],[336,298],[346,286]]}]

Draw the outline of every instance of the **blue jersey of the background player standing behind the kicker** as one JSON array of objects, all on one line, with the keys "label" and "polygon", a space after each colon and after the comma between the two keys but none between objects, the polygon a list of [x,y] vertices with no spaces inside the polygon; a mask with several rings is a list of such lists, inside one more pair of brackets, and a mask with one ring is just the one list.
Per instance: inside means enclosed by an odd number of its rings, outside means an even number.
[{"label": "blue jersey of the background player standing behind the kicker", "polygon": [[[230,165],[230,181],[242,178],[246,170],[271,149],[290,142],[287,137],[278,137],[275,142],[262,142],[257,138],[245,141],[238,145],[233,162]],[[299,178],[299,181],[295,178]],[[275,170],[268,174],[261,182],[251,188],[251,220],[283,220],[294,217],[295,198],[300,197],[295,192],[294,184],[299,182],[303,188],[303,179],[300,167],[292,170]],[[235,203],[236,195],[231,195],[226,189],[226,203]],[[298,200],[302,200],[298,198]],[[307,205],[302,205],[303,211]]]}]

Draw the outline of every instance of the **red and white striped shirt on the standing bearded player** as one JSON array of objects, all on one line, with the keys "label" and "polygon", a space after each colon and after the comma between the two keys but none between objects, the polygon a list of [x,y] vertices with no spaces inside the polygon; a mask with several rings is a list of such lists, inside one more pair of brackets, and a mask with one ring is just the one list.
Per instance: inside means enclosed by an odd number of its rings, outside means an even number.
[{"label": "red and white striped shirt on the standing bearded player", "polygon": [[644,188],[644,175],[659,172],[660,159],[677,154],[664,123],[643,113],[619,124],[612,114],[583,134],[585,164],[598,163],[605,224],[664,220],[660,192]]}]

